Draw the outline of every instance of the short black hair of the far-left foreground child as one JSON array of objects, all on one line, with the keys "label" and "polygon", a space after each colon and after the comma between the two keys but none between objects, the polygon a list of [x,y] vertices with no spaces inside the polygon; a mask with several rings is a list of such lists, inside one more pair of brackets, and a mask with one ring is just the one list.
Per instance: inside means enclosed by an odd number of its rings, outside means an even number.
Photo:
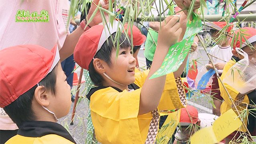
[{"label": "short black hair of the far-left foreground child", "polygon": [[[60,63],[58,63],[60,64]],[[56,69],[58,64],[54,67],[52,72],[39,82],[40,86],[44,86],[46,90],[50,90],[55,94],[56,85]],[[10,116],[13,122],[19,126],[25,121],[34,121],[36,116],[32,110],[32,100],[34,98],[34,92],[37,88],[37,84],[30,88],[27,92],[19,96],[14,102],[4,107],[4,111]]]}]

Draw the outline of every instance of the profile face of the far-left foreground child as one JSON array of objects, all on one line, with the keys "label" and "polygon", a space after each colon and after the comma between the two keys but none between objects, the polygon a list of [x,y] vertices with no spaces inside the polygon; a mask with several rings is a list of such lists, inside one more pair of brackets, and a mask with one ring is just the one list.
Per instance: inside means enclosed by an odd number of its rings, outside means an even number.
[{"label": "profile face of the far-left foreground child", "polygon": [[50,101],[50,104],[52,103],[52,110],[57,118],[66,116],[72,103],[70,86],[68,85],[66,78],[67,77],[61,68],[61,64],[59,63],[56,69],[55,96],[52,96]]}]

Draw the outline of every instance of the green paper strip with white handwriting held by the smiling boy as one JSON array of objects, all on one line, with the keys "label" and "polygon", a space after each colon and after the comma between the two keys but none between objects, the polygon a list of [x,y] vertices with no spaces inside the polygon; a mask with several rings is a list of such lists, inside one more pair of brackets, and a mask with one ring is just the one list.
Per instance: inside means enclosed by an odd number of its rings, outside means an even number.
[{"label": "green paper strip with white handwriting held by the smiling boy", "polygon": [[150,79],[158,78],[178,70],[194,42],[194,36],[201,30],[202,21],[194,15],[193,20],[187,22],[187,29],[183,40],[170,47],[162,66],[150,77]]}]

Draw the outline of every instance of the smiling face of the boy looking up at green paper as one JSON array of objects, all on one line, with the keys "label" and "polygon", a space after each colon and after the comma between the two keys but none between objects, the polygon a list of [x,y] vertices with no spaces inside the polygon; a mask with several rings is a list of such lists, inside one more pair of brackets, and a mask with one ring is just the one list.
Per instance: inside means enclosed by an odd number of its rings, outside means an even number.
[{"label": "smiling face of the boy looking up at green paper", "polygon": [[132,56],[131,48],[120,48],[116,59],[116,50],[111,54],[111,66],[106,67],[106,74],[120,84],[134,83],[136,59]]}]

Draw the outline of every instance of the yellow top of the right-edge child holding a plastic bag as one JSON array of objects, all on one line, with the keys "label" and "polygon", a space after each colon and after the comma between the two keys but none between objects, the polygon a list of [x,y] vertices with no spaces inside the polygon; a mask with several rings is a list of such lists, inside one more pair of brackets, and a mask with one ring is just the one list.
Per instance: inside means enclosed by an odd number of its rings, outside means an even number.
[{"label": "yellow top of the right-edge child holding a plastic bag", "polygon": [[[236,62],[234,62],[233,60],[230,60],[223,68],[223,72],[222,75],[220,76],[220,79],[223,80],[226,76],[226,73],[228,72],[228,70],[235,64]],[[235,90],[234,88],[232,88],[230,85],[224,83],[226,89],[228,90],[228,93],[230,94],[230,96],[232,97],[232,99],[236,99],[236,97],[238,96],[239,92],[237,90]],[[222,98],[224,99],[224,101],[222,102],[221,106],[220,106],[220,113],[224,114],[226,111],[228,111],[231,108],[232,102],[229,99],[228,94],[226,93],[226,91],[224,90],[224,87],[222,86],[220,80],[219,80],[219,87],[220,87],[220,95],[222,96]],[[235,100],[234,100],[235,101]],[[249,104],[249,99],[248,96],[245,95],[244,100],[242,100],[242,102],[245,102],[247,104]],[[246,106],[244,106],[242,103],[240,103],[238,106],[236,106],[238,108],[238,110],[241,111],[244,110],[244,108],[246,108]],[[235,108],[232,108],[235,111]],[[236,111],[235,111],[236,112]],[[249,113],[248,113],[249,114]],[[247,120],[246,118],[244,119],[245,124],[247,124]],[[244,128],[244,126],[242,125],[242,127],[239,129],[240,131],[246,132],[246,129]]]}]

